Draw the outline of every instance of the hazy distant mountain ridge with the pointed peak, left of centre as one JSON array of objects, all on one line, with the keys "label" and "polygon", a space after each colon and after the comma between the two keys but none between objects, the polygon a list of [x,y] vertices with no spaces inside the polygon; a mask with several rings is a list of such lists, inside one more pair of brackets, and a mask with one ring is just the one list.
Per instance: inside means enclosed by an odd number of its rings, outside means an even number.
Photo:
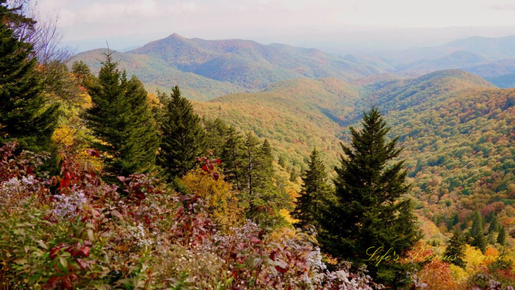
[{"label": "hazy distant mountain ridge with the pointed peak, left of centre", "polygon": [[[101,53],[76,55],[93,71]],[[251,40],[187,39],[178,34],[116,53],[122,68],[130,69],[147,88],[179,85],[194,100],[210,100],[227,93],[258,91],[278,80],[339,78],[347,81],[382,73],[382,64],[353,56],[334,56],[316,49]]]}]

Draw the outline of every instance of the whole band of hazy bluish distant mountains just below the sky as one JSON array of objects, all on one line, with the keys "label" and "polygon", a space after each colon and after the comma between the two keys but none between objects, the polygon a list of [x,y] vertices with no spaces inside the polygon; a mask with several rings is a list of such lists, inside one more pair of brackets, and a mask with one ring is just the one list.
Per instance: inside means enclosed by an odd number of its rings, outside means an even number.
[{"label": "whole band of hazy bluish distant mountains just below the sky", "polygon": [[[96,71],[105,52],[87,51],[74,59],[83,60]],[[444,69],[465,70],[499,87],[515,85],[515,36],[471,37],[364,57],[250,40],[186,39],[172,34],[137,49],[116,52],[114,58],[151,91],[167,91],[179,85],[188,98],[201,101],[263,90],[285,79],[338,78],[359,83],[367,78],[413,77]]]}]

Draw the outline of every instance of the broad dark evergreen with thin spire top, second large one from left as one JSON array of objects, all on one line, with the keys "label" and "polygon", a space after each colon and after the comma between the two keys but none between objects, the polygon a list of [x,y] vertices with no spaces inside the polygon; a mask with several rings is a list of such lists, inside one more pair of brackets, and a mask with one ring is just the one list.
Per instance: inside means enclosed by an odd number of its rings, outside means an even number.
[{"label": "broad dark evergreen with thin spire top, second large one from left", "polygon": [[96,146],[107,153],[110,173],[147,172],[155,164],[159,144],[147,92],[140,80],[127,79],[125,71],[117,69],[111,55],[106,54],[98,78],[85,84],[93,102],[89,125],[103,141]]}]

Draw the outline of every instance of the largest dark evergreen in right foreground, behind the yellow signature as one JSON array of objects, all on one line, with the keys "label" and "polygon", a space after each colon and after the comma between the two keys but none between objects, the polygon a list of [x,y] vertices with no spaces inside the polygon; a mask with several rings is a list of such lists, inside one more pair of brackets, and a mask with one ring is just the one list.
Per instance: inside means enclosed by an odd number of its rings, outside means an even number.
[{"label": "largest dark evergreen in right foreground, behind the yellow signature", "polygon": [[369,258],[369,247],[402,255],[419,239],[410,201],[399,200],[409,186],[404,160],[393,162],[402,150],[396,148],[398,138],[386,140],[390,128],[375,107],[362,124],[361,132],[350,127],[352,148],[341,144],[345,157],[336,168],[337,202],[320,221],[327,234],[319,236],[333,256],[358,263]]}]

